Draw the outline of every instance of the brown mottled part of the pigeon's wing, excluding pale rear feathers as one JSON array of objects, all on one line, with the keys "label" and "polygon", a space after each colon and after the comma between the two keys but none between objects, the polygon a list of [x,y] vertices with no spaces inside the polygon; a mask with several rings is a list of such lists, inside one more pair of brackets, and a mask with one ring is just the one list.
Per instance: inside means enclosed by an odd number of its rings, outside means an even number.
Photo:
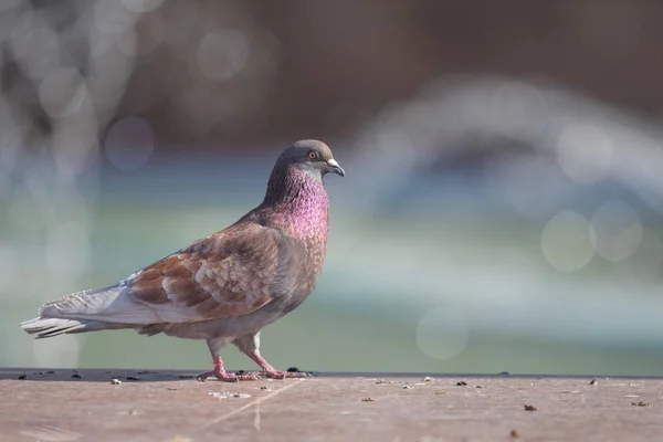
[{"label": "brown mottled part of the pigeon's wing, excluding pale rear feathers", "polygon": [[272,301],[277,264],[275,230],[235,224],[145,267],[128,295],[169,323],[246,315]]}]

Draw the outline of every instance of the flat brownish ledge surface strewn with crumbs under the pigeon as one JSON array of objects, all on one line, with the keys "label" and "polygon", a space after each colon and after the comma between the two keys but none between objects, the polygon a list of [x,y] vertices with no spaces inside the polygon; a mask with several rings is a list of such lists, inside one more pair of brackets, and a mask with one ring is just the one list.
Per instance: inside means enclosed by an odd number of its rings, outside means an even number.
[{"label": "flat brownish ledge surface strewn with crumbs under the pigeon", "polygon": [[0,369],[0,441],[663,440],[663,379],[193,375]]}]

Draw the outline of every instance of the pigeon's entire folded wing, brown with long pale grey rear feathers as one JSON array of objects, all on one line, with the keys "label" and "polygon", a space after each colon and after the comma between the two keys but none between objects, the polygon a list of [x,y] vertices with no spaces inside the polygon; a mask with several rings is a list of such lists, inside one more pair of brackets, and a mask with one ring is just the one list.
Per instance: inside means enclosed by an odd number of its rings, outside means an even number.
[{"label": "pigeon's entire folded wing, brown with long pale grey rear feathers", "polygon": [[234,224],[102,291],[45,304],[41,317],[147,325],[250,314],[272,301],[281,234]]}]

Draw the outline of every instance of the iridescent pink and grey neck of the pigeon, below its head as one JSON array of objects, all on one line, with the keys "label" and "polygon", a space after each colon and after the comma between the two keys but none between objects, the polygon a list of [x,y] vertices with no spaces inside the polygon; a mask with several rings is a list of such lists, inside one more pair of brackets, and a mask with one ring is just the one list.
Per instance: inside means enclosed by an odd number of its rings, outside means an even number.
[{"label": "iridescent pink and grey neck of the pigeon, below its head", "polygon": [[298,167],[274,170],[263,206],[272,208],[269,221],[296,239],[326,239],[329,201],[322,178]]}]

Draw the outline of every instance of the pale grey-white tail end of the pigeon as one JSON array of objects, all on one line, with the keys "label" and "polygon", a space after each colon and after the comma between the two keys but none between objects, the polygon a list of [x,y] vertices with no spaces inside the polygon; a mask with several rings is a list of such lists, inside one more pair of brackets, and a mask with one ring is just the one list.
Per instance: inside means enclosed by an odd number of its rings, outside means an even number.
[{"label": "pale grey-white tail end of the pigeon", "polygon": [[20,324],[21,328],[35,338],[50,338],[63,334],[77,334],[118,328],[135,328],[136,325],[114,322],[105,312],[126,303],[122,296],[126,284],[73,293],[44,304],[39,317]]}]

